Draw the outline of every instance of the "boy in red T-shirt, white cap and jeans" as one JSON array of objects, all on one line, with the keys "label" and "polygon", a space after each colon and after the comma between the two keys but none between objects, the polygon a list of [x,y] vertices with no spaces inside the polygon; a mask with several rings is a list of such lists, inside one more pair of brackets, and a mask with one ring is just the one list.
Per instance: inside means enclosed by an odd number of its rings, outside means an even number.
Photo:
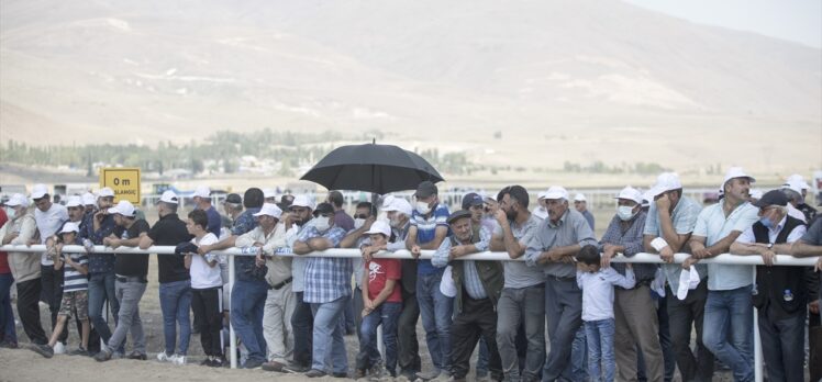
[{"label": "boy in red T-shirt, white cap and jeans", "polygon": [[[397,321],[402,310],[402,292],[399,280],[400,260],[375,259],[373,255],[385,249],[391,236],[388,223],[377,221],[366,232],[370,244],[363,247],[365,272],[363,273],[363,325],[360,326],[357,378],[370,369],[374,377],[396,377]],[[386,362],[377,350],[377,326],[382,324],[382,342],[386,346]]]}]

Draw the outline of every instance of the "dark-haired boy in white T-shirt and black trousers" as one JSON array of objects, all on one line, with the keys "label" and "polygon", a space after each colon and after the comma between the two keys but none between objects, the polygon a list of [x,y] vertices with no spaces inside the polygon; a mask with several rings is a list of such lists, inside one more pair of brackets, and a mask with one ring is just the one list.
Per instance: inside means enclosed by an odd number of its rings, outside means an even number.
[{"label": "dark-haired boy in white T-shirt and black trousers", "polygon": [[202,366],[220,368],[223,366],[223,351],[220,332],[222,329],[222,278],[220,276],[219,259],[214,254],[199,255],[197,248],[218,241],[214,234],[209,233],[209,217],[202,210],[195,210],[188,214],[186,228],[195,238],[191,243],[178,246],[186,255],[186,268],[191,274],[191,310],[195,312],[195,323],[200,327],[200,342],[206,352]]}]

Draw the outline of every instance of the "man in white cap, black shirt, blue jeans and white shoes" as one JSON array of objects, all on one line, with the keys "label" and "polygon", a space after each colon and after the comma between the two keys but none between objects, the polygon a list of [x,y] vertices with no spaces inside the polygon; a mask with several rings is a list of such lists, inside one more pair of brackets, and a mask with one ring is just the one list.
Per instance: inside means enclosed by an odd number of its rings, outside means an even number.
[{"label": "man in white cap, black shirt, blue jeans and white shoes", "polygon": [[[163,192],[157,202],[159,220],[148,234],[140,240],[141,249],[153,245],[177,246],[190,241],[192,236],[186,228],[186,222],[177,215],[179,200],[174,191]],[[157,255],[157,280],[159,281],[159,306],[163,311],[163,333],[165,351],[157,355],[160,362],[185,364],[188,344],[191,339],[191,276],[186,268],[182,255]],[[177,344],[177,325],[180,327]],[[176,346],[179,345],[179,346]]]}]

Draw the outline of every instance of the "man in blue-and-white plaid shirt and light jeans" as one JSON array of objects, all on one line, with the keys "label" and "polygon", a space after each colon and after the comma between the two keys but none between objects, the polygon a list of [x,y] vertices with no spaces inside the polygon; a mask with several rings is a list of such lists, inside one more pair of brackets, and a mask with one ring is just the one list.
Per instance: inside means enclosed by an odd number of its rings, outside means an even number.
[{"label": "man in blue-and-white plaid shirt and light jeans", "polygon": [[[302,229],[293,244],[295,255],[308,255],[340,246],[345,229],[334,225],[334,207],[320,203],[314,209],[314,223]],[[313,351],[309,378],[331,373],[337,378],[348,374],[348,361],[343,340],[345,305],[351,297],[352,261],[349,258],[311,257],[306,263],[303,301],[314,314]],[[331,360],[331,370],[326,370]]]}]

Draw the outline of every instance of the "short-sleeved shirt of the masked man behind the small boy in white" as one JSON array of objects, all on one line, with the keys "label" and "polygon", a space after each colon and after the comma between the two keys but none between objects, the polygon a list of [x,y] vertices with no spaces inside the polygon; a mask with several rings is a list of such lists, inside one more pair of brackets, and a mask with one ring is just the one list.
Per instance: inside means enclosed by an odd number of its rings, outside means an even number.
[{"label": "short-sleeved shirt of the masked man behind the small boy in white", "polygon": [[[602,235],[602,239],[599,240],[599,250],[602,251],[606,244],[618,245],[625,247],[622,255],[625,257],[633,257],[634,255],[643,251],[642,247],[642,231],[645,227],[645,218],[647,214],[645,211],[640,211],[632,220],[629,221],[631,225],[622,231],[622,220],[619,216],[613,216],[611,223],[608,224],[606,234]],[[611,268],[616,270],[620,274],[625,274],[624,262],[611,262]],[[654,280],[656,276],[657,265],[655,263],[634,263],[634,276],[636,277],[636,283],[643,281]]]}]

